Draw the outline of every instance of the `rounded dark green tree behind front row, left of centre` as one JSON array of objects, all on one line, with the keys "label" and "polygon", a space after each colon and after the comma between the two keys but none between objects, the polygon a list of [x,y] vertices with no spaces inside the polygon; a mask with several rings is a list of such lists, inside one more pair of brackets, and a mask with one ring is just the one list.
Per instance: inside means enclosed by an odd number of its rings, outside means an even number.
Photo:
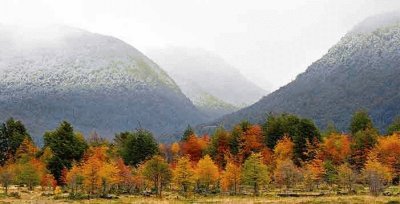
[{"label": "rounded dark green tree behind front row, left of centre", "polygon": [[150,131],[123,132],[116,136],[121,139],[119,153],[128,165],[137,166],[158,152],[158,144]]}]

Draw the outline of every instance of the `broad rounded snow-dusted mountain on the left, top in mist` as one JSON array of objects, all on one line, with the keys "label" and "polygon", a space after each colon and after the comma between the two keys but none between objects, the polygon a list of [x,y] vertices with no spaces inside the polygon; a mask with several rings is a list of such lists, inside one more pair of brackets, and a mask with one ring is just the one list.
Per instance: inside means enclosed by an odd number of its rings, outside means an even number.
[{"label": "broad rounded snow-dusted mountain on the left, top in mist", "polygon": [[84,30],[0,26],[0,121],[34,136],[62,120],[111,137],[147,128],[163,135],[205,117],[166,72],[125,42]]}]

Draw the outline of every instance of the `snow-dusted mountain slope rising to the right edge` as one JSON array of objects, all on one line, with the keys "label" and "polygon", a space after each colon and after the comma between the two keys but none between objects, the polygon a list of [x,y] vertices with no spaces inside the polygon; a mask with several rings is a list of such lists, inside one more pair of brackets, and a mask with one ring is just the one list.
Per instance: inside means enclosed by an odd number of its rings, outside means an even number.
[{"label": "snow-dusted mountain slope rising to the right edge", "polygon": [[365,109],[384,130],[400,114],[399,76],[400,14],[370,17],[294,81],[209,125],[262,122],[267,113],[286,112],[347,130],[353,112]]}]

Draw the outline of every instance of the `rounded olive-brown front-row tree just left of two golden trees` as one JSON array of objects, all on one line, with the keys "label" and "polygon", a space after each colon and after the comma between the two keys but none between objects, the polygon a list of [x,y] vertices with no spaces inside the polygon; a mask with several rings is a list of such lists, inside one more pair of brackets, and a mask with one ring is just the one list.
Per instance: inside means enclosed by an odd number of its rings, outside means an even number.
[{"label": "rounded olive-brown front-row tree just left of two golden trees", "polygon": [[144,163],[143,175],[154,184],[154,189],[159,197],[162,196],[162,189],[172,179],[172,171],[165,160],[155,156]]}]

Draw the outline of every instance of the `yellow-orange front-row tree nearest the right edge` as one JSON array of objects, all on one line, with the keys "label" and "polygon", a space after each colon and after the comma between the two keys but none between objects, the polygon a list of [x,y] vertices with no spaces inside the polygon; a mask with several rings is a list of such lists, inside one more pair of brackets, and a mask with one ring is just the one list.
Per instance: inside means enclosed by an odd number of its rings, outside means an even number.
[{"label": "yellow-orange front-row tree nearest the right edge", "polygon": [[369,186],[370,193],[375,196],[383,192],[392,179],[390,168],[380,163],[374,153],[368,156],[362,175]]}]

